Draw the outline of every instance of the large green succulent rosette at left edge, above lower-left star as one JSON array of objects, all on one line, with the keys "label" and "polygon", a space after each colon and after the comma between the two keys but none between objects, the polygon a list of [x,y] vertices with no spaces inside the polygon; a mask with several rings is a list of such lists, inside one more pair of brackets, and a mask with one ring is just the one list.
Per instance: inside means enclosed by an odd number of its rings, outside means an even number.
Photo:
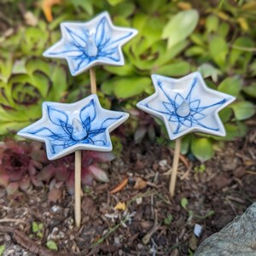
[{"label": "large green succulent rosette at left edge, above lower-left star", "polygon": [[0,134],[29,125],[40,118],[44,101],[59,102],[67,93],[63,66],[39,58],[0,64]]}]

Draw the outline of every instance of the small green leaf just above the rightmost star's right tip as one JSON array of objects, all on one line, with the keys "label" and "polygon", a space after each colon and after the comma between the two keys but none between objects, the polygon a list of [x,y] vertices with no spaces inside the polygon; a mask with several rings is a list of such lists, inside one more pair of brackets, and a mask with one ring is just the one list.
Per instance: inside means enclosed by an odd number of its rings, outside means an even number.
[{"label": "small green leaf just above the rightmost star's right tip", "polygon": [[218,90],[232,96],[238,96],[241,91],[241,79],[237,76],[224,79],[219,85]]}]

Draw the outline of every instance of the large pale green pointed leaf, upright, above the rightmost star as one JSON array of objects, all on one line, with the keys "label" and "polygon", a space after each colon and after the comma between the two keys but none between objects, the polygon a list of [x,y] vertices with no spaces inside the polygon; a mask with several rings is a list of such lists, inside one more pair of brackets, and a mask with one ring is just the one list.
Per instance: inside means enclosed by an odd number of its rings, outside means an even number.
[{"label": "large pale green pointed leaf, upright, above the rightmost star", "polygon": [[166,24],[162,38],[168,39],[168,48],[182,42],[194,31],[199,20],[198,12],[195,9],[189,9],[174,15]]}]

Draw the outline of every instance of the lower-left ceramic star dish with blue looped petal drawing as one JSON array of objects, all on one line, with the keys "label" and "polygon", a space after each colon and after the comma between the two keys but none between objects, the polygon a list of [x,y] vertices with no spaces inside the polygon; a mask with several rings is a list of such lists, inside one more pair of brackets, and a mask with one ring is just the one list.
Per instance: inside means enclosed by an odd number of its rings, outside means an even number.
[{"label": "lower-left ceramic star dish with blue looped petal drawing", "polygon": [[82,149],[111,151],[109,132],[128,117],[128,113],[102,108],[96,95],[70,104],[44,102],[43,117],[18,135],[44,142],[49,160]]}]

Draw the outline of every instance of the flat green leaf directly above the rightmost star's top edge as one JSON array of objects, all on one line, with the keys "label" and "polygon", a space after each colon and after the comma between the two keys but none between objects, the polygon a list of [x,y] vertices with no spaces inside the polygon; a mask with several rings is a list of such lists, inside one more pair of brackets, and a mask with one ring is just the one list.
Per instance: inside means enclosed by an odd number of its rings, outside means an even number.
[{"label": "flat green leaf directly above the rightmost star's top edge", "polygon": [[190,71],[190,64],[186,61],[178,61],[166,66],[162,66],[156,70],[156,73],[164,76],[183,76]]}]

